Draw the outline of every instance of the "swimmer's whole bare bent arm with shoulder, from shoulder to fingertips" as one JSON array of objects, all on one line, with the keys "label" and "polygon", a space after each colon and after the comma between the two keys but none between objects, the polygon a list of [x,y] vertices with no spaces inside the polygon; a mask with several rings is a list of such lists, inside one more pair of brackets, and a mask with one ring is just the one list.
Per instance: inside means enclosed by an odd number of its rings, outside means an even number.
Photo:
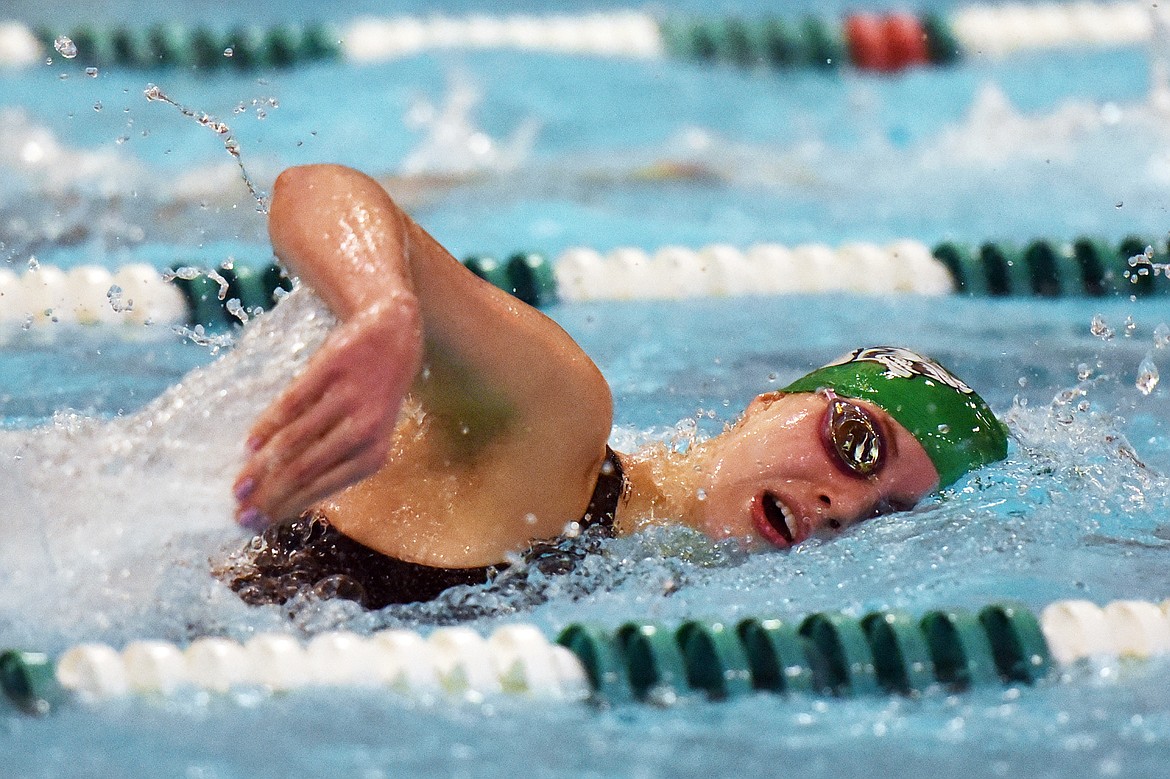
[{"label": "swimmer's whole bare bent arm with shoulder, from shoulder to fingertips", "polygon": [[[556,323],[470,274],[373,179],[349,168],[282,173],[269,233],[277,256],[339,324],[255,423],[235,484],[242,523],[260,526],[332,496],[331,522],[393,553],[411,521],[391,526],[379,516],[391,513],[387,502],[410,502],[450,539],[447,551],[433,542],[433,558],[469,550],[462,564],[472,565],[579,516],[612,402],[600,372]],[[428,420],[426,467],[457,484],[457,495],[433,505],[408,484],[395,494],[404,480],[387,466],[407,393]]]}]

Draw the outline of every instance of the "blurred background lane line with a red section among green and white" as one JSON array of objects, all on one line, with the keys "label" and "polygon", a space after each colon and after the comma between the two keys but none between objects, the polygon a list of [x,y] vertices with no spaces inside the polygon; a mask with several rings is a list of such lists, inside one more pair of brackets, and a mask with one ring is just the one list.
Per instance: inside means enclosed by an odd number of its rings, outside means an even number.
[{"label": "blurred background lane line with a red section among green and white", "polygon": [[253,71],[318,62],[372,63],[428,50],[521,49],[673,57],[776,70],[896,73],[1035,49],[1145,44],[1162,12],[1138,1],[971,4],[950,14],[851,13],[841,19],[666,16],[634,11],[558,16],[364,18],[274,27],[82,25],[69,30],[0,22],[0,67],[51,58],[84,68]]}]

